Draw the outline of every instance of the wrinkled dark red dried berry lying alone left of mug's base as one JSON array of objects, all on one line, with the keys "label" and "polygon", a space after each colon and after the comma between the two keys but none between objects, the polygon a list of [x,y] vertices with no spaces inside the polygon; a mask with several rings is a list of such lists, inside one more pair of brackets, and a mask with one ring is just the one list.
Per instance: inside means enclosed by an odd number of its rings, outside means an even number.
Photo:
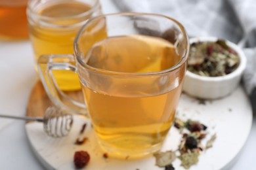
[{"label": "wrinkled dark red dried berry lying alone left of mug's base", "polygon": [[74,154],[74,165],[76,169],[81,169],[87,165],[90,160],[90,155],[86,151],[77,151]]}]

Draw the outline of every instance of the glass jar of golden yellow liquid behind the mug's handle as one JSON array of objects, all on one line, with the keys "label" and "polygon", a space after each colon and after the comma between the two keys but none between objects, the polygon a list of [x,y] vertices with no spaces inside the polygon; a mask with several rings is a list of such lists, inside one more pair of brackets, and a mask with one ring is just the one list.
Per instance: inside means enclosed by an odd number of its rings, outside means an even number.
[{"label": "glass jar of golden yellow liquid behind the mug's handle", "polygon": [[[37,63],[43,54],[73,54],[75,35],[86,20],[101,14],[101,7],[98,0],[30,0],[27,14]],[[61,90],[81,89],[78,76],[71,71],[54,71],[53,75]]]}]

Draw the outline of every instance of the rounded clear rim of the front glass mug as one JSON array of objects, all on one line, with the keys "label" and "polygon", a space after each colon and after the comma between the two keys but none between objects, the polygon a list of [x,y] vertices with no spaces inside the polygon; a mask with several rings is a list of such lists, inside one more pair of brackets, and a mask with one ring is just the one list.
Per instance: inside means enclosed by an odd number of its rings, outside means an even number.
[{"label": "rounded clear rim of the front glass mug", "polygon": [[[122,16],[159,16],[161,18],[166,18],[168,20],[171,20],[173,22],[175,22],[175,24],[179,25],[179,28],[181,29],[181,32],[182,32],[182,35],[184,37],[186,37],[185,39],[185,42],[186,42],[186,46],[185,48],[187,50],[184,50],[184,54],[181,56],[181,59],[179,60],[179,62],[174,65],[173,67],[170,67],[169,69],[165,69],[163,71],[156,71],[156,72],[149,72],[149,73],[125,73],[125,72],[117,72],[117,71],[108,71],[108,70],[105,70],[105,69],[98,69],[98,68],[95,68],[95,67],[91,67],[90,65],[87,65],[87,63],[85,63],[83,61],[83,59],[81,58],[82,55],[81,52],[79,51],[79,38],[81,37],[81,34],[83,33],[83,31],[85,30],[85,28],[87,27],[88,24],[90,24],[91,22],[93,22],[94,20],[99,20],[100,18],[105,18],[106,16],[119,16],[119,15],[122,15]],[[161,14],[150,14],[150,13],[141,13],[141,12],[117,12],[117,13],[114,13],[114,14],[102,14],[100,16],[96,16],[96,17],[93,17],[93,18],[90,18],[89,20],[87,20],[87,22],[85,23],[85,25],[83,25],[81,27],[81,29],[79,29],[76,37],[75,37],[75,41],[74,41],[74,57],[75,59],[77,59],[78,63],[80,65],[83,66],[83,68],[85,69],[88,69],[90,71],[95,71],[97,73],[100,73],[100,74],[104,74],[104,75],[127,75],[127,76],[145,76],[145,75],[148,75],[148,76],[152,76],[152,75],[161,75],[161,74],[164,74],[164,73],[169,73],[171,71],[174,71],[175,69],[178,69],[179,67],[182,66],[182,64],[184,62],[186,62],[187,58],[188,58],[188,52],[189,52],[189,46],[190,46],[190,42],[189,42],[189,39],[188,39],[188,35],[183,27],[183,25],[178,22],[177,20],[173,19],[173,18],[170,18],[168,16],[165,16],[165,15],[161,15]],[[88,58],[89,56],[85,56],[85,58]],[[86,59],[85,59],[86,60]]]}]

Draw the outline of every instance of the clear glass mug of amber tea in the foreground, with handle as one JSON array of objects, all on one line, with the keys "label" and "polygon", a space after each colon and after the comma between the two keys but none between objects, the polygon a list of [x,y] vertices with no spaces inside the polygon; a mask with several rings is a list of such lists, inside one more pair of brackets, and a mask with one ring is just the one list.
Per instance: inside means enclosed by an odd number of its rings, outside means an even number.
[{"label": "clear glass mug of amber tea in the foreground, with handle", "polygon": [[[98,36],[102,29],[105,38]],[[105,152],[139,158],[160,150],[173,124],[188,50],[184,27],[172,18],[107,14],[88,20],[81,28],[74,56],[62,56],[62,62],[59,56],[42,56],[39,73],[58,106],[90,117]],[[85,105],[73,101],[65,105],[52,95],[58,89],[51,73],[59,69],[79,75],[89,114]]]}]

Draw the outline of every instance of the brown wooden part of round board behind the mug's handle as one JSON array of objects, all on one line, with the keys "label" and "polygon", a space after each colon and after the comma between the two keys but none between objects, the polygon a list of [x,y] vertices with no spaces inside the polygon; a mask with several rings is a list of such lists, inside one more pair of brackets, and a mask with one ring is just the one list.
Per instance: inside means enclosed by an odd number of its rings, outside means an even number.
[{"label": "brown wooden part of round board behind the mug's handle", "polygon": [[[65,92],[66,95],[72,97],[77,101],[83,102],[83,95],[81,90],[74,92]],[[48,107],[53,106],[53,103],[49,99],[45,89],[43,88],[43,84],[41,81],[38,81],[32,92],[30,93],[30,98],[28,100],[26,115],[27,116],[44,116],[45,110]]]}]

